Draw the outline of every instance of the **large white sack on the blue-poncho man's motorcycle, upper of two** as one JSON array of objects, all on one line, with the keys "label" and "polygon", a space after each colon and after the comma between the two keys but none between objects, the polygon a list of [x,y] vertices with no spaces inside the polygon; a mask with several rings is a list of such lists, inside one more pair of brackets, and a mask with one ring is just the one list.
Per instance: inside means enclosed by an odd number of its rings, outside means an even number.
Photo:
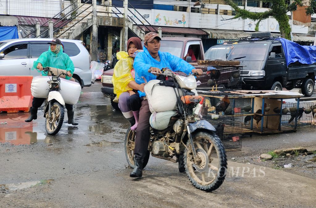
[{"label": "large white sack on the blue-poncho man's motorcycle, upper of two", "polygon": [[[145,84],[144,91],[148,100],[151,113],[163,112],[176,109],[177,97],[173,87],[159,85],[157,79],[150,80]],[[177,91],[177,89],[175,89]],[[177,91],[178,94],[178,91]],[[182,91],[179,91],[182,96]]]}]

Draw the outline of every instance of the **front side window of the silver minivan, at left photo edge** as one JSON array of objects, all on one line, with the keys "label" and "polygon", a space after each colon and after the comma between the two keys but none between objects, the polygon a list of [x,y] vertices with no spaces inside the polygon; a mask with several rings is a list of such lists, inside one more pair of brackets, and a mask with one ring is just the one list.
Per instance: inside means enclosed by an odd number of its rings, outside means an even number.
[{"label": "front side window of the silver minivan, at left photo edge", "polygon": [[3,59],[27,58],[27,43],[10,45],[0,53],[5,55]]}]

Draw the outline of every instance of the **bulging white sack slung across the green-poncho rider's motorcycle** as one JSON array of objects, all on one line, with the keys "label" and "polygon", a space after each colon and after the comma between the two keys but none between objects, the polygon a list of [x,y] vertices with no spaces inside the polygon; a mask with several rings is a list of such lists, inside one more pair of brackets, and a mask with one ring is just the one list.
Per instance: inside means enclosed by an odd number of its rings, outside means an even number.
[{"label": "bulging white sack slung across the green-poncho rider's motorcycle", "polygon": [[[37,98],[47,98],[49,93],[49,83],[51,76],[36,76],[31,83],[31,93]],[[60,94],[65,103],[74,105],[78,102],[81,86],[79,83],[60,78]]]}]

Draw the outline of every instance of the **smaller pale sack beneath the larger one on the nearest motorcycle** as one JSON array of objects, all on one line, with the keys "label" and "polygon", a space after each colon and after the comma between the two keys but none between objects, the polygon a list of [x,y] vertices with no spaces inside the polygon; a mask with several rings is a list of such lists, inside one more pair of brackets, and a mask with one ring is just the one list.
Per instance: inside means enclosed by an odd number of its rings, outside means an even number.
[{"label": "smaller pale sack beneath the larger one on the nearest motorcycle", "polygon": [[149,124],[151,127],[157,130],[164,130],[168,127],[170,118],[177,114],[177,111],[164,111],[164,112],[154,112],[150,115]]}]

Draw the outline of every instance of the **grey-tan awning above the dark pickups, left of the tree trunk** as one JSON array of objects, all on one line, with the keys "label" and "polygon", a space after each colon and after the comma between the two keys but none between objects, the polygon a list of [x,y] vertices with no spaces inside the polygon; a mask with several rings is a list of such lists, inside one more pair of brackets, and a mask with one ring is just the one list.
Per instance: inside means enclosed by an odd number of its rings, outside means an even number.
[{"label": "grey-tan awning above the dark pickups, left of the tree trunk", "polygon": [[210,34],[210,39],[239,39],[245,38],[251,35],[251,32],[244,31],[226,31],[226,30],[211,30],[204,29],[208,34]]}]

